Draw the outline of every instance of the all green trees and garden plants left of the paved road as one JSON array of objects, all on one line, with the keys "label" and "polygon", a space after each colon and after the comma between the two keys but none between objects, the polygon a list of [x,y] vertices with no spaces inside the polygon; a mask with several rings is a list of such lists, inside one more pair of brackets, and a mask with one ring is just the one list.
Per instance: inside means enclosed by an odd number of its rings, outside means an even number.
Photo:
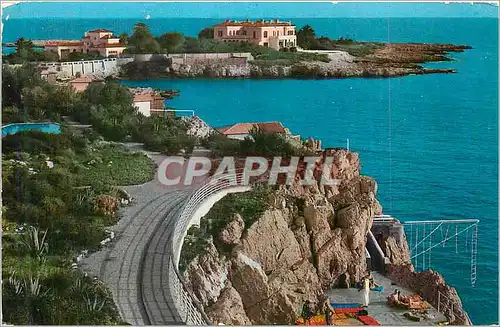
[{"label": "all green trees and garden plants left of the paved road", "polygon": [[2,138],[3,320],[123,324],[104,285],[72,264],[82,251],[98,249],[106,227],[117,222],[125,196],[117,185],[151,180],[154,164],[143,154],[103,142],[102,136],[155,137],[163,150],[179,150],[171,139],[163,142],[164,130],[185,126],[138,114],[127,89],[116,83],[77,94],[40,79],[30,64],[4,66],[3,77],[4,123],[61,121],[69,115],[95,125],[89,135],[63,126],[60,135],[22,132]]}]

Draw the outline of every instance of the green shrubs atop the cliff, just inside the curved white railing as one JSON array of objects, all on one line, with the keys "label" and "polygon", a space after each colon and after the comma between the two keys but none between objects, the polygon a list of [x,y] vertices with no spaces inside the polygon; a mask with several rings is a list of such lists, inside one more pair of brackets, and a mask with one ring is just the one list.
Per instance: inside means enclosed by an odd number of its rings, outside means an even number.
[{"label": "green shrubs atop the cliff, just inside the curved white railing", "polygon": [[228,194],[210,209],[208,214],[200,221],[200,227],[191,227],[188,230],[179,262],[180,271],[184,271],[188,264],[206,250],[210,238],[217,249],[228,252],[231,247],[224,245],[219,240],[219,234],[235,214],[240,214],[245,222],[245,229],[252,224],[269,208],[270,188],[257,185],[245,193]]}]

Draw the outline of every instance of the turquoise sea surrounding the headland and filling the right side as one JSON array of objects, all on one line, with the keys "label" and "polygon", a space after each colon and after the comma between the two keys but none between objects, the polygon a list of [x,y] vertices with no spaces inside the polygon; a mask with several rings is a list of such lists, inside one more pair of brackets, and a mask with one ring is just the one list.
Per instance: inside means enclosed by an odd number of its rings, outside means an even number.
[{"label": "turquoise sea surrounding the headland and filling the right side", "polygon": [[[274,17],[273,17],[274,18]],[[285,17],[280,19],[287,19]],[[390,42],[467,44],[457,74],[393,79],[150,80],[127,85],[178,89],[169,106],[193,109],[209,124],[281,121],[324,146],[359,152],[362,173],[379,183],[384,212],[402,221],[478,218],[477,283],[470,254],[438,249],[432,267],[458,289],[475,324],[498,322],[498,19],[293,19],[317,34]],[[130,32],[136,20],[10,19],[4,41],[79,38],[92,28]],[[196,35],[213,19],[151,19],[155,34]]]}]

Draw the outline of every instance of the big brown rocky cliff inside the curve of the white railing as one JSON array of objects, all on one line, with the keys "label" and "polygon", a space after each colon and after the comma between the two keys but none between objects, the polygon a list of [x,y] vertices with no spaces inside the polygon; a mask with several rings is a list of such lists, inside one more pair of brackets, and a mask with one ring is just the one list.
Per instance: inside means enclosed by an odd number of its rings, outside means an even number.
[{"label": "big brown rocky cliff inside the curve of the white railing", "polygon": [[360,176],[356,153],[330,155],[339,185],[280,186],[254,223],[234,214],[188,264],[184,277],[212,323],[293,323],[305,300],[320,303],[326,288],[366,272],[377,186]]}]

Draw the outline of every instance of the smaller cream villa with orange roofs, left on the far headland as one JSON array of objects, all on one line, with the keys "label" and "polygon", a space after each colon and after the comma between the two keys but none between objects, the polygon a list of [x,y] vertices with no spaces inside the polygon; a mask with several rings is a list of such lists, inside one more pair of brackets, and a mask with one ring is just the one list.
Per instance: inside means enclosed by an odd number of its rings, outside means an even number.
[{"label": "smaller cream villa with orange roofs, left on the far headland", "polygon": [[66,58],[71,52],[97,52],[103,57],[117,56],[126,49],[118,36],[102,28],[88,31],[80,41],[47,41],[44,47],[46,51],[57,53],[59,58]]}]

